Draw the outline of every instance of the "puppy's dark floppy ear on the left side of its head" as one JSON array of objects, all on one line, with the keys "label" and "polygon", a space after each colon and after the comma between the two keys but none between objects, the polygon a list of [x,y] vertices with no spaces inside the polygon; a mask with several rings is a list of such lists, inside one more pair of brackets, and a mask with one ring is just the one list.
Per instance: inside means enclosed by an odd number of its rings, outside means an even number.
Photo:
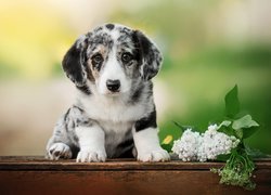
[{"label": "puppy's dark floppy ear on the left side of its head", "polygon": [[65,54],[62,66],[67,77],[77,86],[82,87],[87,82],[86,49],[88,39],[83,35],[79,37]]}]

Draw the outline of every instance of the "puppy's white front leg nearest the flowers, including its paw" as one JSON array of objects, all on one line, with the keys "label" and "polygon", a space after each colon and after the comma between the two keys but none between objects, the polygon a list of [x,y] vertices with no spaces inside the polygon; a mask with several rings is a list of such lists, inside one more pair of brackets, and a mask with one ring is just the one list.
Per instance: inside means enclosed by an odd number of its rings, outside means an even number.
[{"label": "puppy's white front leg nearest the flowers, including its paw", "polygon": [[133,129],[133,141],[138,152],[138,160],[166,161],[170,157],[159,145],[157,128],[146,128],[140,131]]}]

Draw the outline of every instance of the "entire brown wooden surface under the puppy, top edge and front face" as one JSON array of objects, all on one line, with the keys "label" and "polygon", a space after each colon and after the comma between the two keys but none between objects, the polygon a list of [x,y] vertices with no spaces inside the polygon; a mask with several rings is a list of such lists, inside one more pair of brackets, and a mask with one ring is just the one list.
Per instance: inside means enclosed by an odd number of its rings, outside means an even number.
[{"label": "entire brown wooden surface under the puppy, top edge and front face", "polygon": [[0,194],[270,194],[271,160],[257,161],[256,191],[219,184],[221,162],[77,164],[42,157],[0,157]]}]

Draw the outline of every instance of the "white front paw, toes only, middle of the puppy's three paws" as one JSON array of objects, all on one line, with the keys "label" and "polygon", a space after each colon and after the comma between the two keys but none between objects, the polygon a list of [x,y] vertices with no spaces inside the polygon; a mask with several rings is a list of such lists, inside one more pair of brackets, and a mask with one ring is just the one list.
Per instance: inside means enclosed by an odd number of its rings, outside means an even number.
[{"label": "white front paw, toes only, middle of the puppy's three paws", "polygon": [[106,153],[103,151],[80,151],[77,155],[77,162],[105,161]]}]

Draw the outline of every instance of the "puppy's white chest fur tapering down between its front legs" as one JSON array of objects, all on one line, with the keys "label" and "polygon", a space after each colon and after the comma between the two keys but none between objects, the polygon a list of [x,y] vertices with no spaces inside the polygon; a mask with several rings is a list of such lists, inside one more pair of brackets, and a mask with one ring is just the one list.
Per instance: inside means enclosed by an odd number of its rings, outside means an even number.
[{"label": "puppy's white chest fur tapering down between its front legs", "polygon": [[104,96],[80,96],[80,104],[88,117],[98,121],[105,133],[105,150],[112,157],[117,147],[132,135],[132,126],[151,106],[127,104],[124,99]]}]

